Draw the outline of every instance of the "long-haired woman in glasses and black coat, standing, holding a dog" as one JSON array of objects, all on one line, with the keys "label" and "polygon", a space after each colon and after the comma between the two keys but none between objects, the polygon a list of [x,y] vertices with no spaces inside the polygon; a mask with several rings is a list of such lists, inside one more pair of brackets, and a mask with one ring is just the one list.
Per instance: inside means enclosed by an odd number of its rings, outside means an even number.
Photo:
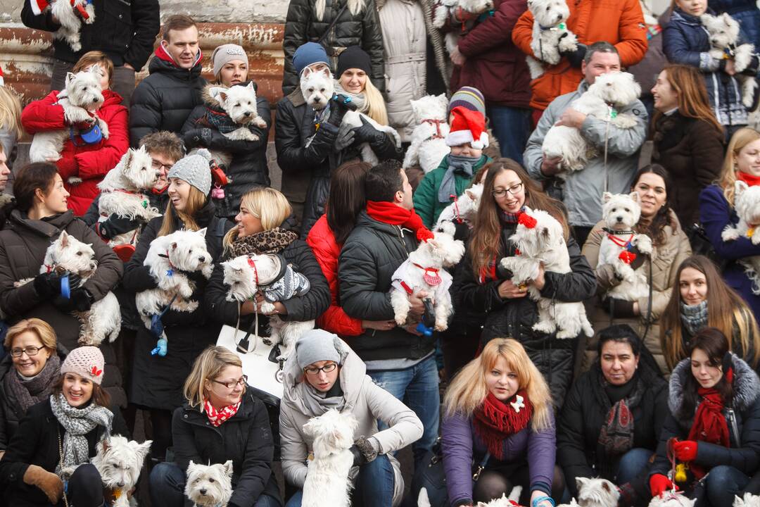
[{"label": "long-haired woman in glasses and black coat, standing, holding a dog", "polygon": [[559,406],[572,380],[575,340],[559,340],[554,333],[532,329],[538,322],[537,303],[527,297],[527,287],[511,281],[511,272],[502,269],[499,262],[516,255],[509,236],[515,233],[526,206],[546,211],[562,224],[570,255],[569,273],[544,271],[542,265],[532,282],[534,287],[543,296],[566,303],[581,302],[594,295],[594,270],[569,234],[562,203],[541,192],[522,166],[505,158],[490,164],[483,183],[483,198],[470,232],[467,255],[458,271],[462,280],[460,293],[465,306],[486,312],[480,343],[514,337],[546,375],[552,398]]}]

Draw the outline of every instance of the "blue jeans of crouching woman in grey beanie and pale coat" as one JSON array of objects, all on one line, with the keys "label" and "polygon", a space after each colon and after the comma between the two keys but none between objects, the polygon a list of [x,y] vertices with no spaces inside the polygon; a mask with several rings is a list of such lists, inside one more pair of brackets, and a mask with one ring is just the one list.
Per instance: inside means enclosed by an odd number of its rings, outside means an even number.
[{"label": "blue jeans of crouching woman in grey beanie and pale coat", "polygon": [[[393,503],[394,473],[391,460],[380,455],[370,463],[359,467],[356,487],[351,493],[354,507],[391,507]],[[285,507],[301,507],[303,490],[290,497]],[[257,505],[258,507],[258,505]]]}]

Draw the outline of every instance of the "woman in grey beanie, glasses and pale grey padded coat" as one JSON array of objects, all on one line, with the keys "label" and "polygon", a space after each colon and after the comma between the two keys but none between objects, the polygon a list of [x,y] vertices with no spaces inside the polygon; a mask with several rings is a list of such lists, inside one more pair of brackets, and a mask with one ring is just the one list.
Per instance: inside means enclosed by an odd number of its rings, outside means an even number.
[{"label": "woman in grey beanie, glasses and pale grey padded coat", "polygon": [[[364,507],[400,505],[404,479],[392,453],[419,439],[422,423],[412,410],[372,382],[363,361],[344,341],[315,329],[303,335],[285,363],[280,406],[283,474],[287,483],[299,489],[287,507],[299,507],[304,496],[312,502],[323,498],[313,484],[311,490],[303,490],[312,467],[306,461],[313,441],[302,426],[331,409],[350,413],[359,423],[353,433],[354,466],[349,474],[355,484],[354,502]],[[378,419],[390,427],[378,431]]]}]

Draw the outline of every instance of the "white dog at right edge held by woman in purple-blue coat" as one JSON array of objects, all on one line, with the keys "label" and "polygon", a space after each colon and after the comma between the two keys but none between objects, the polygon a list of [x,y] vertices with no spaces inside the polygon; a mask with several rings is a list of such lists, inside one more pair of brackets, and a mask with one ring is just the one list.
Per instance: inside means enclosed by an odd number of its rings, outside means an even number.
[{"label": "white dog at right edge held by woman in purple-blue coat", "polygon": [[[727,225],[721,233],[724,241],[735,241],[747,237],[752,245],[760,244],[760,186],[749,186],[741,180],[734,183],[733,208],[739,215],[736,227]],[[739,261],[744,266],[744,272],[752,280],[752,293],[760,294],[760,255],[745,257]]]}]

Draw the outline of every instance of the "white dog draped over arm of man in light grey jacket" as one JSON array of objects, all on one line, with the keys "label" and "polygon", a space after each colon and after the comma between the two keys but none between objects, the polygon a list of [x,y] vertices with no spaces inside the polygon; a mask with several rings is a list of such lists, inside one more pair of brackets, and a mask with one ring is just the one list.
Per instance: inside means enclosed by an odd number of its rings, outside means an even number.
[{"label": "white dog draped over arm of man in light grey jacket", "polygon": [[[574,100],[570,107],[597,119],[609,121],[617,128],[633,128],[636,125],[635,116],[619,113],[616,109],[629,105],[640,94],[641,86],[632,74],[609,72],[597,76],[594,84]],[[587,161],[597,155],[597,148],[581,136],[578,128],[565,125],[553,125],[549,128],[541,151],[546,158],[562,157],[562,169],[571,171],[583,169]]]}]

